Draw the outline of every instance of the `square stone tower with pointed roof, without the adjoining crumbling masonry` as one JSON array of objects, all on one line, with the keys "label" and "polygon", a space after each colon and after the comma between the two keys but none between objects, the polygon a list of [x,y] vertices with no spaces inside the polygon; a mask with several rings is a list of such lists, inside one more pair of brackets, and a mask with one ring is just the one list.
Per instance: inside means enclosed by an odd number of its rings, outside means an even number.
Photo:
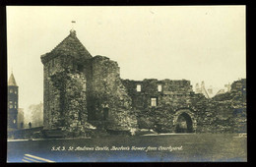
[{"label": "square stone tower with pointed roof, without the adjoining crumbling masonry", "polygon": [[75,30],[51,52],[41,56],[43,64],[44,129],[72,127],[87,120],[87,60],[92,58]]}]

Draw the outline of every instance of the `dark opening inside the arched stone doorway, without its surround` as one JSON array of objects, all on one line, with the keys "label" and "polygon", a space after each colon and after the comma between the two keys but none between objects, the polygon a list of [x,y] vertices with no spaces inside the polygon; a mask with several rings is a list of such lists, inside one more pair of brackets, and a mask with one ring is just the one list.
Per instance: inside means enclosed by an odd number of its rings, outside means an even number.
[{"label": "dark opening inside the arched stone doorway, without its surround", "polygon": [[191,117],[187,113],[182,113],[178,116],[175,133],[192,133],[193,125]]}]

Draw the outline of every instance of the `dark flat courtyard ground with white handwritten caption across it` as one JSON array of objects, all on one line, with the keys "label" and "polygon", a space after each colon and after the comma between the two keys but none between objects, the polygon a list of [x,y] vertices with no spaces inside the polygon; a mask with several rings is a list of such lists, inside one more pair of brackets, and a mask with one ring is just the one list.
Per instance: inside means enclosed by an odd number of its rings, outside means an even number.
[{"label": "dark flat courtyard ground with white handwritten caption across it", "polygon": [[55,162],[245,162],[247,138],[238,134],[162,134],[8,141],[8,162],[23,162],[25,154]]}]

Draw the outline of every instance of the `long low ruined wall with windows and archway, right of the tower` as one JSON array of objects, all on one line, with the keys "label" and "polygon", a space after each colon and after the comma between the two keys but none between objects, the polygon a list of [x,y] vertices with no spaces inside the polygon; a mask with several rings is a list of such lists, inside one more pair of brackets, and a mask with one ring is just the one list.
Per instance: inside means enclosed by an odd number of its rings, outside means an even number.
[{"label": "long low ruined wall with windows and archway, right of the tower", "polygon": [[[191,117],[193,132],[196,133],[233,133],[245,129],[246,98],[243,80],[234,82],[230,92],[212,99],[202,93],[195,93],[190,82],[184,80],[122,82],[132,97],[140,128],[175,132],[175,120],[180,111],[184,110]],[[141,85],[141,91],[136,90],[137,84]],[[159,84],[162,85],[161,91],[157,89]],[[157,106],[151,106],[151,97],[157,97]]]}]

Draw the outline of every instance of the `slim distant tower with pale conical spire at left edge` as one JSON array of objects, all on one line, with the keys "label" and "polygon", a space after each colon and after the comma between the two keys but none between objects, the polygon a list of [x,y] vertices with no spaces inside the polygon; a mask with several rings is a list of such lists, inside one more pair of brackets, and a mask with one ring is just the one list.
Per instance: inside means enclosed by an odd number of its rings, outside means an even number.
[{"label": "slim distant tower with pale conical spire at left edge", "polygon": [[19,108],[19,86],[17,85],[13,73],[8,81],[8,129],[17,129],[17,115]]}]

